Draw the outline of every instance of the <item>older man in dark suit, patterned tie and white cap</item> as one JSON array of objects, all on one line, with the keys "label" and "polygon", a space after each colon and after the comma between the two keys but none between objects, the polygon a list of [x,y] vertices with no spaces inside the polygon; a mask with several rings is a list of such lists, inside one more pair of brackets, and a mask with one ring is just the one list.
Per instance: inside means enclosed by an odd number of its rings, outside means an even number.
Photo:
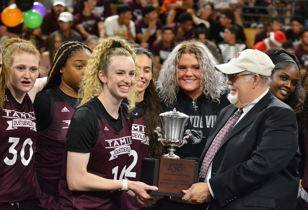
[{"label": "older man in dark suit, patterned tie and white cap", "polygon": [[200,159],[199,183],[177,201],[212,210],[289,210],[298,192],[298,128],[293,110],[269,90],[274,68],[244,50],[215,69],[227,74],[231,105],[217,116]]}]

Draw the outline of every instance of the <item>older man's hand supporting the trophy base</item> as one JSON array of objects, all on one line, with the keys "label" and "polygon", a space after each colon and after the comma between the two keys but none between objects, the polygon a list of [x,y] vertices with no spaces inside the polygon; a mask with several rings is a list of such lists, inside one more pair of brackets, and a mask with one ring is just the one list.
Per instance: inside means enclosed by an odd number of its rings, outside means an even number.
[{"label": "older man's hand supporting the trophy base", "polygon": [[182,198],[170,197],[170,199],[188,204],[202,204],[211,196],[208,183],[206,182],[195,183],[187,190],[183,190],[183,193],[185,195]]}]

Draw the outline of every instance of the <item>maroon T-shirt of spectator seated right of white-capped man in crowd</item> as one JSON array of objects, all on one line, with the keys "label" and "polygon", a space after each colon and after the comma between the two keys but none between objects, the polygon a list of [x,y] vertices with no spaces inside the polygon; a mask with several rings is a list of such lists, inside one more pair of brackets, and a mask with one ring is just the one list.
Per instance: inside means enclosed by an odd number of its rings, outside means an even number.
[{"label": "maroon T-shirt of spectator seated right of white-capped man in crowd", "polygon": [[[84,29],[91,35],[99,36],[97,23],[103,21],[103,18],[98,14],[91,14],[91,16],[84,16],[82,13],[74,15],[74,25],[82,24]],[[76,30],[78,31],[78,30]]]}]

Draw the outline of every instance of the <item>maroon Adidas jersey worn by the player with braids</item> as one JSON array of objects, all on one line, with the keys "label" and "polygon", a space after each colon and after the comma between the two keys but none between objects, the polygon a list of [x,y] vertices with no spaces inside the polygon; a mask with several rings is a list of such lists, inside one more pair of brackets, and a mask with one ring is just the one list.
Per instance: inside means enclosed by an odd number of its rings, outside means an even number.
[{"label": "maroon Adidas jersey worn by the player with braids", "polygon": [[[65,152],[65,136],[75,112],[77,98],[67,96],[59,87],[47,89],[45,94],[51,103],[50,116],[46,116],[46,120],[51,121],[51,124],[47,129],[38,131],[36,173],[40,179],[58,188]],[[40,97],[35,100],[40,100]]]}]

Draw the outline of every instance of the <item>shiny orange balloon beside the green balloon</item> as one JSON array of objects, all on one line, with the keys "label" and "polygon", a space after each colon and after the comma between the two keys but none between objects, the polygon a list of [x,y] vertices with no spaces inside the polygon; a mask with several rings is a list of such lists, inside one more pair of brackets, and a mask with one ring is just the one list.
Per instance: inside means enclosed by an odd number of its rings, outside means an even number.
[{"label": "shiny orange balloon beside the green balloon", "polygon": [[18,7],[8,6],[1,13],[1,21],[8,27],[15,27],[22,21],[22,11]]}]

